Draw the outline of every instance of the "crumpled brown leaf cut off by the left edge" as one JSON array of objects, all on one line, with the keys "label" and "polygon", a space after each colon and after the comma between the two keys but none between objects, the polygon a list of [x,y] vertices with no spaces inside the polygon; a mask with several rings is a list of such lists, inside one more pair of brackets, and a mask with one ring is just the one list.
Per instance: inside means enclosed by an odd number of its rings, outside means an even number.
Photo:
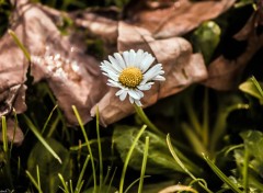
[{"label": "crumpled brown leaf cut off by the left edge", "polygon": [[8,116],[13,107],[18,113],[26,109],[23,83],[27,66],[23,66],[23,53],[16,48],[5,34],[0,42],[0,116]]}]

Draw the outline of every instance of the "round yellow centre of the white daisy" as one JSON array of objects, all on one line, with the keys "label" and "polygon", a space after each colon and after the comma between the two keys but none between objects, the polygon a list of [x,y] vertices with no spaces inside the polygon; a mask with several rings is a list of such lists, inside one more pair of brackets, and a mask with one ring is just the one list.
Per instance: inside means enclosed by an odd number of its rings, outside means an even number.
[{"label": "round yellow centre of the white daisy", "polygon": [[136,88],[142,80],[142,73],[137,67],[128,67],[122,71],[118,81],[128,88]]}]

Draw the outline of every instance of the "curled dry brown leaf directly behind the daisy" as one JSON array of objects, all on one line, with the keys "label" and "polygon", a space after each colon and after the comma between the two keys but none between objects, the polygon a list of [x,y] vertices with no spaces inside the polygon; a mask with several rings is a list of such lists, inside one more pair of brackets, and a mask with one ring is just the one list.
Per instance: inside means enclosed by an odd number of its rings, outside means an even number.
[{"label": "curled dry brown leaf directly behind the daisy", "polygon": [[[162,83],[156,82],[151,90],[145,92],[141,101],[144,107],[207,77],[203,57],[192,53],[192,46],[187,41],[181,37],[158,41],[145,29],[119,22],[118,50],[124,52],[132,48],[135,50],[141,48],[153,54],[165,71],[167,80]],[[115,92],[116,90],[111,88],[111,91],[98,104],[103,125],[114,123],[134,112],[128,100],[121,102],[115,96]],[[95,107],[92,109],[91,114],[95,114]]]}]

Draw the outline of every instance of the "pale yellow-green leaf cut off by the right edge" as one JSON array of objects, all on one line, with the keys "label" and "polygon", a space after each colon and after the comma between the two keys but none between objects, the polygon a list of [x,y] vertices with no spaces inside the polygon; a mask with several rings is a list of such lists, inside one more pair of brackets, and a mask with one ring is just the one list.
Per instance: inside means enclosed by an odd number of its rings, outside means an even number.
[{"label": "pale yellow-green leaf cut off by the right edge", "polygon": [[263,104],[262,83],[258,82],[254,77],[252,77],[252,78],[248,79],[245,82],[241,83],[239,86],[239,90],[259,99],[261,104]]}]

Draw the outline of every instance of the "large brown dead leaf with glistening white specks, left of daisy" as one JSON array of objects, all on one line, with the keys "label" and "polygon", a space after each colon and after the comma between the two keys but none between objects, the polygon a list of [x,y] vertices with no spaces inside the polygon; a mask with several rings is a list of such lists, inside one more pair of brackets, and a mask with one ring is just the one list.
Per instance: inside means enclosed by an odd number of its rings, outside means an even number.
[{"label": "large brown dead leaf with glistening white specks, left of daisy", "polygon": [[[61,36],[56,21],[65,13],[18,2],[16,14],[19,21],[13,30],[31,53],[34,82],[48,83],[70,124],[77,124],[71,105],[77,106],[84,123],[90,121],[89,110],[104,94],[103,84],[102,91],[94,89],[100,87],[102,76],[99,63],[81,50],[82,45],[76,45],[81,42],[79,36]],[[23,64],[21,58],[18,61]]]}]

